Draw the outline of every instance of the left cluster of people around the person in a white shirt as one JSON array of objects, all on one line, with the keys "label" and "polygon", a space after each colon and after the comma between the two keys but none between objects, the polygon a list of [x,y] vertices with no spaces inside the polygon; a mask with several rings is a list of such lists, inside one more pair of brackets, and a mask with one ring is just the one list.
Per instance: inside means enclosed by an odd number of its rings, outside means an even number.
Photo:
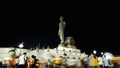
[{"label": "left cluster of people around the person in a white shirt", "polygon": [[36,59],[35,55],[27,57],[26,54],[27,53],[23,53],[20,56],[16,56],[16,58],[12,60],[5,60],[0,68],[39,68],[39,59]]}]

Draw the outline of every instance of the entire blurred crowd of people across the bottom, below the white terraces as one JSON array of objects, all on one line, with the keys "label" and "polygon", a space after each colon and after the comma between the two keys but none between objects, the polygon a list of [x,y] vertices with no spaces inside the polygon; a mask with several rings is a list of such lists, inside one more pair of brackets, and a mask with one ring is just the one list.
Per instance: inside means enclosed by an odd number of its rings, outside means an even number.
[{"label": "entire blurred crowd of people across the bottom, below the white terraces", "polygon": [[97,57],[91,54],[84,58],[52,56],[43,61],[35,55],[27,57],[26,54],[17,56],[12,64],[6,62],[4,68],[117,68],[105,55]]}]

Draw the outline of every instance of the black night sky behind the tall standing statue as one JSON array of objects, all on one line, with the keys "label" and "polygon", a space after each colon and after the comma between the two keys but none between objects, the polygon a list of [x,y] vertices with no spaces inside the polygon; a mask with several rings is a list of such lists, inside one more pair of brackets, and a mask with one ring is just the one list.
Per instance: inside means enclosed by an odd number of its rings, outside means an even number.
[{"label": "black night sky behind the tall standing statue", "polygon": [[118,9],[103,4],[12,5],[1,10],[0,46],[25,47],[39,43],[57,47],[59,17],[66,21],[65,37],[72,36],[77,48],[87,53],[119,53]]}]

